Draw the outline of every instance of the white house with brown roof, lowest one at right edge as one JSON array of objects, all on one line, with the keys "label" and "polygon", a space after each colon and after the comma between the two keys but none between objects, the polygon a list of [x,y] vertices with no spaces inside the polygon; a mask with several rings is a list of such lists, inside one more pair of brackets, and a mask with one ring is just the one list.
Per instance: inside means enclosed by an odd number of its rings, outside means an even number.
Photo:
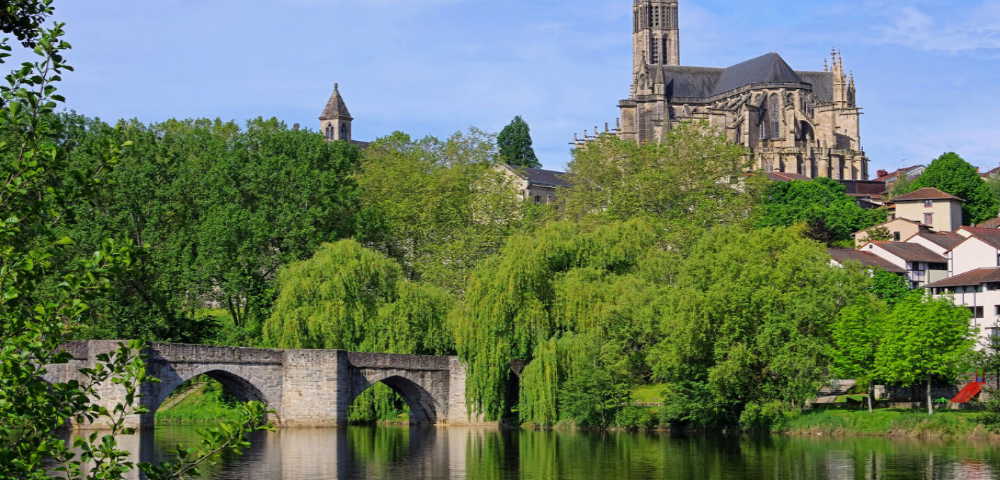
[{"label": "white house with brown roof, lowest one at right edge", "polygon": [[935,296],[952,295],[956,305],[968,307],[981,345],[1000,334],[1000,268],[977,268],[924,288]]}]

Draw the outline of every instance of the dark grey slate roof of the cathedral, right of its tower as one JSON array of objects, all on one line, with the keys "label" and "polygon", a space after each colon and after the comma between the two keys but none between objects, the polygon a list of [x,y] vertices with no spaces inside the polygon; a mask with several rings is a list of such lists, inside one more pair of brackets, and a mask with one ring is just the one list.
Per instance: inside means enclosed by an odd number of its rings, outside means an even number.
[{"label": "dark grey slate roof of the cathedral, right of its tower", "polygon": [[754,83],[808,83],[824,102],[833,101],[833,73],[797,72],[777,53],[728,68],[647,65],[655,83],[666,85],[669,98],[708,98]]}]

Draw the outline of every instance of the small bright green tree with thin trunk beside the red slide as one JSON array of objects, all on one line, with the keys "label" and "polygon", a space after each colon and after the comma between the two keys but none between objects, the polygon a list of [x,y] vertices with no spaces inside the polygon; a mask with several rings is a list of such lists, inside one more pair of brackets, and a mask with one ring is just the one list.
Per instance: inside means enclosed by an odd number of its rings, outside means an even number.
[{"label": "small bright green tree with thin trunk beside the red slide", "polygon": [[970,360],[969,310],[949,298],[914,292],[892,309],[876,358],[876,374],[903,385],[927,386],[927,413],[934,413],[934,377],[952,378]]}]

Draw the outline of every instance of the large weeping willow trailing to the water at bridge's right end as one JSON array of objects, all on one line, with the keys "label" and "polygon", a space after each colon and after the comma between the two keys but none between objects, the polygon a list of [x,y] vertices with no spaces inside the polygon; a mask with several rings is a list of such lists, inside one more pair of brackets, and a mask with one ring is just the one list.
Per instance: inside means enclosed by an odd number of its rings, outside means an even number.
[{"label": "large weeping willow trailing to the water at bridge's right end", "polygon": [[[452,319],[458,354],[468,365],[470,407],[488,419],[504,413],[505,382],[514,359],[521,378],[521,421],[554,423],[559,386],[585,334],[599,345],[591,367],[627,385],[649,375],[645,351],[657,318],[670,254],[662,229],[635,219],[610,225],[555,222],[534,236],[513,237],[473,274]],[[593,369],[592,368],[592,369]],[[590,369],[580,369],[586,375]]]}]

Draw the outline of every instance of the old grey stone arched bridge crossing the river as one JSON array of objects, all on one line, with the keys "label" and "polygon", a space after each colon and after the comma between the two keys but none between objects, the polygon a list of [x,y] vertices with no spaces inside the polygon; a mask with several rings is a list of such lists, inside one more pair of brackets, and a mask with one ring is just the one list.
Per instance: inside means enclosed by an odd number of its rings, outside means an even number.
[{"label": "old grey stone arched bridge crossing the river", "polygon": [[[46,380],[79,378],[79,369],[93,367],[97,355],[116,348],[118,341],[92,340],[65,345],[73,355],[68,364],[50,365]],[[152,426],[156,409],[180,384],[207,375],[242,401],[259,400],[274,410],[280,427],[332,427],[347,424],[347,409],[361,392],[382,382],[410,407],[415,424],[481,424],[465,403],[465,369],[457,357],[353,353],[343,350],[270,350],[153,343],[147,372],[160,383],[141,387],[141,402],[149,413],[135,415],[128,426]],[[124,389],[98,388],[101,405],[111,410]]]}]

